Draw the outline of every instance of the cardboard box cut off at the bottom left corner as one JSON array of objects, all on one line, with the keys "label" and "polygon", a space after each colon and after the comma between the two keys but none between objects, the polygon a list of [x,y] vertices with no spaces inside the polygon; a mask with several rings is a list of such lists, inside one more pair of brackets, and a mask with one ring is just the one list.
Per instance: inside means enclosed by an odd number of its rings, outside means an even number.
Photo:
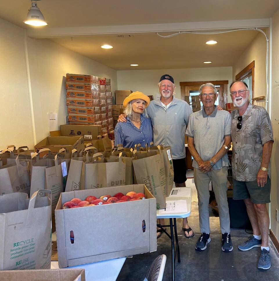
[{"label": "cardboard box cut off at the bottom left corner", "polygon": [[36,269],[0,271],[0,280],[5,281],[85,281],[85,269]]}]

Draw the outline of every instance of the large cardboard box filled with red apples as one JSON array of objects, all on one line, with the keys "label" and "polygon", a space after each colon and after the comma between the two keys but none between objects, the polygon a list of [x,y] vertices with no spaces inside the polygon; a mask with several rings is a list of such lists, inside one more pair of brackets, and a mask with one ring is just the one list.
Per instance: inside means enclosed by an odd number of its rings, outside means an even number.
[{"label": "large cardboard box filled with red apples", "polygon": [[55,221],[60,268],[157,250],[156,199],[143,184],[61,193]]}]

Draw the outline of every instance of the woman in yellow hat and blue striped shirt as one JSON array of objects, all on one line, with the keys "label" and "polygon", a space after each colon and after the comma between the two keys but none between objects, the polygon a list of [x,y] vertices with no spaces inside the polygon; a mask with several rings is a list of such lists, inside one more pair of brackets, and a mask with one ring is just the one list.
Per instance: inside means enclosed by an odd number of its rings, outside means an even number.
[{"label": "woman in yellow hat and blue striped shirt", "polygon": [[153,140],[153,130],[150,118],[145,108],[149,105],[150,98],[142,92],[133,92],[125,98],[123,105],[127,122],[119,122],[114,128],[114,144],[123,144],[123,147],[134,147],[140,143],[145,147]]}]

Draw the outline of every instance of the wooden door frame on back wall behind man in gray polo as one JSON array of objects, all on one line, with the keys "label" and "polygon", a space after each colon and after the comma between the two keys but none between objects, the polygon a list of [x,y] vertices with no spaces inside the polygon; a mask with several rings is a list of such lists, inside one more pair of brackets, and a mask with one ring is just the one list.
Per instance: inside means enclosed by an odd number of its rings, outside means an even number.
[{"label": "wooden door frame on back wall behind man in gray polo", "polygon": [[[201,86],[206,83],[212,83],[213,85],[220,85],[219,90],[219,105],[225,109],[226,103],[228,102],[228,80],[216,80],[216,81],[190,81],[190,82],[180,82],[181,88],[181,99],[185,100],[186,87],[190,86]],[[222,87],[221,87],[222,86]]]}]

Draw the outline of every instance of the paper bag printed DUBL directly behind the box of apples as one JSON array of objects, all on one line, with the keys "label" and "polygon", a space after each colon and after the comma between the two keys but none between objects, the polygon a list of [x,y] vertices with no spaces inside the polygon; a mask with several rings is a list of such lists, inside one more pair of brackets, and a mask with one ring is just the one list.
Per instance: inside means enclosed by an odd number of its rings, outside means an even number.
[{"label": "paper bag printed DUBL directly behind the box of apples", "polygon": [[[99,152],[93,158],[103,157]],[[100,161],[100,160],[97,160]],[[94,163],[95,162],[95,163]],[[85,189],[125,185],[126,164],[122,161],[122,153],[117,162],[85,163]]]}]

